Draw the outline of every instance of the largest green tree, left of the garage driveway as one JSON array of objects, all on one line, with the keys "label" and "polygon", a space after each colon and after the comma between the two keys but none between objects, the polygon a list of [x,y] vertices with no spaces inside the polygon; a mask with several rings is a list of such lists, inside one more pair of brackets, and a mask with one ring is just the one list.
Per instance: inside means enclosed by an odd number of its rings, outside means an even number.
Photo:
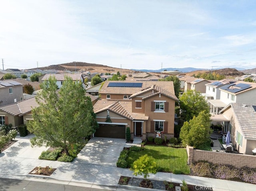
[{"label": "largest green tree, left of the garage driveway", "polygon": [[39,107],[32,110],[33,119],[28,130],[36,136],[32,145],[62,147],[68,153],[68,144],[90,136],[98,128],[89,96],[81,82],[65,77],[57,91],[56,79],[50,77],[40,85],[42,91],[36,96]]}]

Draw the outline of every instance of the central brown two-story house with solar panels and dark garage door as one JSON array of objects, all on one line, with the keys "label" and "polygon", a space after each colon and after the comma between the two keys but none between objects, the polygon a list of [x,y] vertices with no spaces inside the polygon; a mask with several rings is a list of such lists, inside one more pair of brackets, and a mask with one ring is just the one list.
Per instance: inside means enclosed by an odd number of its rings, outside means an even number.
[{"label": "central brown two-story house with solar panels and dark garage door", "polygon": [[[106,81],[94,105],[100,125],[94,136],[126,138],[129,127],[132,138],[174,136],[175,102],[172,81]],[[112,122],[106,122],[107,116]]]}]

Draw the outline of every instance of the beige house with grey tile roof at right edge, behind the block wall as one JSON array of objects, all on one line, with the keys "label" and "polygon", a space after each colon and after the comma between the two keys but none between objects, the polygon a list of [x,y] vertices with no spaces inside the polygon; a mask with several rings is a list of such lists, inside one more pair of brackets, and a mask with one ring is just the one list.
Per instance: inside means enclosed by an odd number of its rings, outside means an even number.
[{"label": "beige house with grey tile roof at right edge, behind the block wall", "polygon": [[252,155],[256,148],[256,104],[230,103],[220,111],[224,133],[230,131],[233,146],[239,153]]}]

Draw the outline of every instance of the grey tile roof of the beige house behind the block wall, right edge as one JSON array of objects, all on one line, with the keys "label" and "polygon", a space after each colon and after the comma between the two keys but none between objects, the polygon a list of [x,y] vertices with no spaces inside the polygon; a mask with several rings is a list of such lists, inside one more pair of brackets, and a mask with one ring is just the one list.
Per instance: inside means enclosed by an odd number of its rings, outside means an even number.
[{"label": "grey tile roof of the beige house behind the block wall, right edge", "polygon": [[244,138],[256,140],[256,105],[231,103],[230,106],[238,120]]}]

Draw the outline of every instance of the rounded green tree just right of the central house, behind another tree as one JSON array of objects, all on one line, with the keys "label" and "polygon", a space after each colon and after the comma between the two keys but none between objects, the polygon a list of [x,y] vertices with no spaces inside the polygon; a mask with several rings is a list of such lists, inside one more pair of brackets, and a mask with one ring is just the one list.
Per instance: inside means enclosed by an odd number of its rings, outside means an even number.
[{"label": "rounded green tree just right of the central house, behind another tree", "polygon": [[188,90],[180,96],[181,117],[184,121],[189,121],[194,116],[198,116],[201,111],[210,111],[204,96],[198,91]]}]

